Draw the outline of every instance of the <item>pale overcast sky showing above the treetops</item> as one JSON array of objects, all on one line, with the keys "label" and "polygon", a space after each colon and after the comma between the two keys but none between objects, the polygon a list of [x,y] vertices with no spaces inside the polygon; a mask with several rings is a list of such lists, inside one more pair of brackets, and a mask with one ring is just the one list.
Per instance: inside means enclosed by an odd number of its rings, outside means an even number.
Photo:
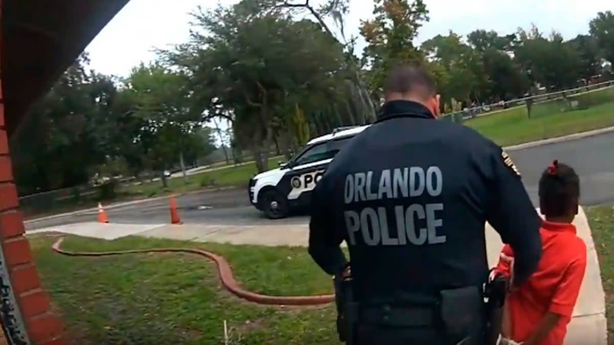
[{"label": "pale overcast sky showing above the treetops", "polygon": [[[303,2],[304,0],[290,0]],[[220,0],[230,5],[236,0]],[[324,0],[311,0],[314,4]],[[565,39],[588,32],[597,12],[614,8],[612,0],[424,0],[430,21],[419,30],[416,44],[453,30],[466,35],[475,29],[493,29],[500,34],[529,28],[556,29]],[[213,0],[130,0],[86,48],[91,68],[104,74],[127,76],[133,66],[155,59],[153,48],[166,48],[187,41],[189,12],[197,6],[216,6]],[[359,36],[360,20],[372,17],[372,0],[351,0],[346,34]],[[332,25],[332,23],[330,23]],[[362,50],[363,44],[359,42]]]}]

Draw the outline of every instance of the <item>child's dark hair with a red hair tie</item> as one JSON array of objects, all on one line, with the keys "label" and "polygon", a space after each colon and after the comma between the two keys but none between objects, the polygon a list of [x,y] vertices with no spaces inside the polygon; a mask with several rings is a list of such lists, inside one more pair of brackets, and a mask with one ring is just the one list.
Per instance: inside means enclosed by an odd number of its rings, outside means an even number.
[{"label": "child's dark hair with a red hair tie", "polygon": [[546,217],[569,215],[578,206],[580,177],[572,167],[555,160],[543,172],[538,193],[540,207]]}]

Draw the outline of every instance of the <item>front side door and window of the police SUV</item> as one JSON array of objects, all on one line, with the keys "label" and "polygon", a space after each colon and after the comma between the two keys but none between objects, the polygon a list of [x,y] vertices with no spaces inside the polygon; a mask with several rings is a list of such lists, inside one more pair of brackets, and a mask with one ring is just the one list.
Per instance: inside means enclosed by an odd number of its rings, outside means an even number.
[{"label": "front side door and window of the police SUV", "polygon": [[311,200],[311,192],[324,175],[325,168],[349,138],[320,142],[301,153],[292,168],[279,181],[278,188],[294,206],[305,206]]}]

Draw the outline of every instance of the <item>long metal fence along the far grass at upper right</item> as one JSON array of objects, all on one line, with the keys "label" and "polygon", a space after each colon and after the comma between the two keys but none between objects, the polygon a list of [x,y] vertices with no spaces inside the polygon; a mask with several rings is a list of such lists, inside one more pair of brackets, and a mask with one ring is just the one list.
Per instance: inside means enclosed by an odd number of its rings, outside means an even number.
[{"label": "long metal fence along the far grass at upper right", "polygon": [[514,107],[526,106],[527,101],[532,101],[537,105],[540,103],[554,101],[556,99],[573,98],[574,96],[582,95],[588,92],[603,90],[614,85],[614,80],[607,82],[594,83],[583,87],[570,88],[567,90],[556,91],[551,93],[543,93],[540,95],[527,96],[524,98],[512,99],[511,101],[500,101],[492,104],[483,104],[481,106],[463,109],[461,111],[444,114],[443,118],[453,122],[463,122],[470,118],[494,115],[504,110]]}]

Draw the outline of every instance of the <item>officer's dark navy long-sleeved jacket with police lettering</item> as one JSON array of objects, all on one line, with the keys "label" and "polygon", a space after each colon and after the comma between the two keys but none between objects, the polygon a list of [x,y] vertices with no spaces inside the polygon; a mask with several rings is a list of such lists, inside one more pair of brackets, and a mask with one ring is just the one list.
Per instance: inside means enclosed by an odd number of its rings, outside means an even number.
[{"label": "officer's dark navy long-sleeved jacket with police lettering", "polygon": [[542,252],[540,219],[510,158],[421,104],[392,101],[314,189],[309,254],[335,274],[348,242],[359,298],[481,285],[486,221],[515,252],[516,282],[526,281]]}]

